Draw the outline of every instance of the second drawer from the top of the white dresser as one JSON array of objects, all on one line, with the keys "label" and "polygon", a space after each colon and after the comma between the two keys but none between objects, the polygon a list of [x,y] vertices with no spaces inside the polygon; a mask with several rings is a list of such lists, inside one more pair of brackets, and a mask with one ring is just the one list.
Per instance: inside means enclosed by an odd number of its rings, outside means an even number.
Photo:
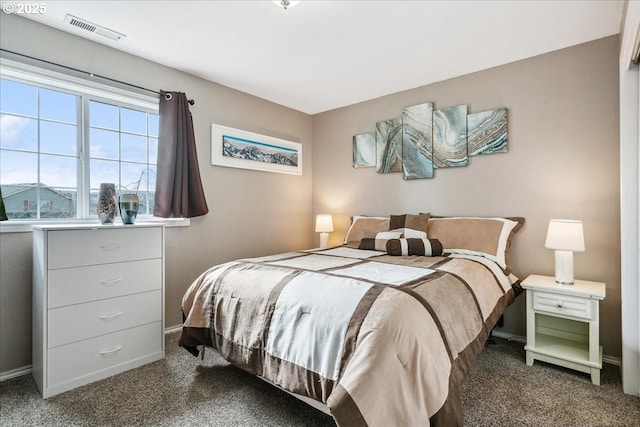
[{"label": "second drawer from the top of the white dresser", "polygon": [[49,308],[162,288],[162,260],[49,270]]}]

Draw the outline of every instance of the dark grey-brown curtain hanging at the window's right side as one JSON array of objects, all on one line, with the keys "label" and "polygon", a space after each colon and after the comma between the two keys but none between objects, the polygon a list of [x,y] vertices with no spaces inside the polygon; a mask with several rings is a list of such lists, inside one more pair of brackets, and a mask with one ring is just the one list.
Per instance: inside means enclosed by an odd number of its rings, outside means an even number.
[{"label": "dark grey-brown curtain hanging at the window's right side", "polygon": [[207,212],[187,96],[182,92],[163,92],[154,216],[192,218]]}]

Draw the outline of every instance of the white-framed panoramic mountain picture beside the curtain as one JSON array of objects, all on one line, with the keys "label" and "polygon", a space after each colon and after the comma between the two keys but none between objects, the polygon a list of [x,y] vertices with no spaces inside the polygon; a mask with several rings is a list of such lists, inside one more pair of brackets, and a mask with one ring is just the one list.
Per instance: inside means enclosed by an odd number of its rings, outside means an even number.
[{"label": "white-framed panoramic mountain picture beside the curtain", "polygon": [[213,123],[211,164],[302,175],[302,144]]}]

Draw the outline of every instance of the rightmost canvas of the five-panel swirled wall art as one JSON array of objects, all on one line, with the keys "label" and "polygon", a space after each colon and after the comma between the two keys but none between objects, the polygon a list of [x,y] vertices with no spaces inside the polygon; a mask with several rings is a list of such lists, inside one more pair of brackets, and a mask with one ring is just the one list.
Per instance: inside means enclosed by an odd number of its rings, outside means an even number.
[{"label": "rightmost canvas of the five-panel swirled wall art", "polygon": [[469,155],[507,152],[507,109],[469,114]]}]

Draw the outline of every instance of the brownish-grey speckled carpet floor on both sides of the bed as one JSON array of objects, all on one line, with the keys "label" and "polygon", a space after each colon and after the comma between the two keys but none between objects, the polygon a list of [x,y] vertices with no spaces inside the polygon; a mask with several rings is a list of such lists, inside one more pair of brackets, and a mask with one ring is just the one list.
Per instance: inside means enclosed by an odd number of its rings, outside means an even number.
[{"label": "brownish-grey speckled carpet floor on both sides of the bed", "polygon": [[[0,425],[335,426],[212,350],[194,358],[178,337],[166,335],[163,360],[47,400],[31,375],[3,381]],[[588,375],[524,359],[522,343],[496,339],[484,349],[464,385],[465,425],[640,426],[640,398],[622,393],[617,366],[605,365],[595,386]]]}]

